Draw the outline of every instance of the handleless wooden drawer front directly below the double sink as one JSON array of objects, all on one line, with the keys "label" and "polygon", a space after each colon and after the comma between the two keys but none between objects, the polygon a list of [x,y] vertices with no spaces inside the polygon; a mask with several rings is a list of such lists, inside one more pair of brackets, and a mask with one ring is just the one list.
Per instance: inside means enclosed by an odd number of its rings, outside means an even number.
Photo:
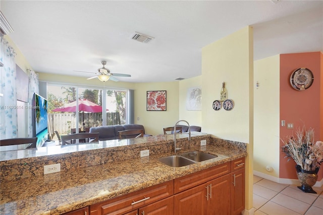
[{"label": "handleless wooden drawer front directly below the double sink", "polygon": [[179,193],[189,188],[205,183],[214,178],[230,173],[230,162],[211,167],[181,178],[174,179],[174,193]]}]

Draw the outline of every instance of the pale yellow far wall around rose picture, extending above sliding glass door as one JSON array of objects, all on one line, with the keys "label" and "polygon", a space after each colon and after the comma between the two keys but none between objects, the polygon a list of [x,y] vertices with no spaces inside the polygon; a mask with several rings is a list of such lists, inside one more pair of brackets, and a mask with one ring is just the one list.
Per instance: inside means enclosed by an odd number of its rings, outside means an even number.
[{"label": "pale yellow far wall around rose picture, extending above sliding glass door", "polygon": [[[97,88],[133,89],[135,91],[135,124],[142,124],[145,132],[151,135],[163,134],[163,128],[173,126],[179,119],[179,89],[178,82],[159,83],[128,83],[128,82],[100,82],[97,79],[86,80],[86,78],[74,76],[58,76],[53,74],[39,73],[40,81],[50,83],[67,83],[78,86]],[[146,92],[154,90],[166,90],[166,111],[147,111]],[[139,117],[139,120],[137,118]]]}]

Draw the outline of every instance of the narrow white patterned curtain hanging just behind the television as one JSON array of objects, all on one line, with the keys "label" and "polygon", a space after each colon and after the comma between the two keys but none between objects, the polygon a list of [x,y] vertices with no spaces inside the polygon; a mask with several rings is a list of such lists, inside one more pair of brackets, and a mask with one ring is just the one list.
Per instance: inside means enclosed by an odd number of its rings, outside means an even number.
[{"label": "narrow white patterned curtain hanging just behind the television", "polygon": [[[39,80],[38,80],[38,74],[36,74],[33,70],[28,70],[29,71],[29,98],[28,98],[28,104],[29,106],[32,106],[32,97],[34,93],[39,93]],[[32,137],[32,111],[33,109],[29,108],[28,110],[28,137]]]}]

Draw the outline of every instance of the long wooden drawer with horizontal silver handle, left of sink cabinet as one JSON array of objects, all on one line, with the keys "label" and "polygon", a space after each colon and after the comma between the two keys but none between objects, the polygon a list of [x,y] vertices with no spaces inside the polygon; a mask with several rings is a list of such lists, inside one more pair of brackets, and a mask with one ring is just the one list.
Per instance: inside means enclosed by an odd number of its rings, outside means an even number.
[{"label": "long wooden drawer with horizontal silver handle, left of sink cabinet", "polygon": [[173,195],[173,181],[147,187],[90,206],[91,215],[117,215]]}]

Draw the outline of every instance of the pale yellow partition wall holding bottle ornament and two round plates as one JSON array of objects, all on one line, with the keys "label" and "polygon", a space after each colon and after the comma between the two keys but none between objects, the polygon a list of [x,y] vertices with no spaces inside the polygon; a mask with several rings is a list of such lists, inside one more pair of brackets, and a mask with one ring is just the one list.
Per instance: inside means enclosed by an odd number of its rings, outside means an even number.
[{"label": "pale yellow partition wall holding bottle ornament and two round plates", "polygon": [[[245,27],[202,48],[202,128],[222,139],[247,143],[246,209],[252,208],[253,177],[253,31]],[[234,108],[212,109],[222,82]]]}]

